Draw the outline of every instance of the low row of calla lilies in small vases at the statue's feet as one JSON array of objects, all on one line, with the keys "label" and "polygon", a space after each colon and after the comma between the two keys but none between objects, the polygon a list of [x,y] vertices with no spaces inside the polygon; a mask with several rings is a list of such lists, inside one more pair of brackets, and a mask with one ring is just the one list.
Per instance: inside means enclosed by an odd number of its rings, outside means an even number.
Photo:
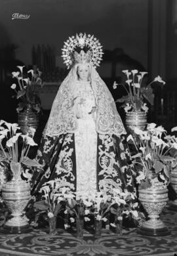
[{"label": "low row of calla lilies in small vases at the statue's feet", "polygon": [[88,196],[81,192],[72,192],[69,182],[46,182],[39,191],[42,193],[43,199],[34,203],[37,211],[35,223],[39,219],[39,215],[43,214],[44,219],[49,221],[49,224],[52,222],[56,226],[56,217],[61,217],[58,213],[63,212],[64,228],[76,226],[77,237],[81,238],[83,237],[84,223],[92,221],[92,217],[95,223],[100,224],[100,230],[102,229],[102,221],[109,225],[110,213],[115,215],[115,221],[111,223],[111,226],[117,227],[119,224],[117,220],[122,220],[125,215],[128,217],[132,214],[136,219],[138,217],[138,211],[136,211],[138,203],[133,203],[134,195],[114,188],[112,191],[112,194],[109,195],[101,191]]}]

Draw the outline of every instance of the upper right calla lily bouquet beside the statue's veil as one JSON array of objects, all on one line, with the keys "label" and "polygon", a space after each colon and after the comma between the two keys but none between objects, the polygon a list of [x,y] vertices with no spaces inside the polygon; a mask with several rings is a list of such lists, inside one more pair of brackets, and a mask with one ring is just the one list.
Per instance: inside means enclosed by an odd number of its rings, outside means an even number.
[{"label": "upper right calla lily bouquet beside the statue's veil", "polygon": [[148,85],[143,85],[143,78],[147,72],[138,72],[138,70],[128,70],[122,71],[125,75],[127,75],[127,80],[125,81],[126,85],[118,84],[116,81],[113,83],[113,89],[117,89],[118,85],[123,85],[125,91],[127,92],[126,96],[122,96],[117,99],[115,102],[124,102],[121,107],[125,109],[125,112],[130,110],[140,111],[144,110],[147,112],[148,108],[146,103],[144,103],[144,98],[153,105],[154,94],[151,88],[151,84],[154,82],[163,83],[165,85],[165,81],[158,75],[151,81]]}]

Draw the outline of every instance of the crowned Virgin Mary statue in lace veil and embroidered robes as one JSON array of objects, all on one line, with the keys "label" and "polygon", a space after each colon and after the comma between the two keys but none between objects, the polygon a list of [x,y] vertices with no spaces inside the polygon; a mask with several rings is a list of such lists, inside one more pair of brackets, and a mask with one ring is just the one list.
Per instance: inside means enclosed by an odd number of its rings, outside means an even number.
[{"label": "crowned Virgin Mary statue in lace veil and embroidered robes", "polygon": [[96,72],[102,54],[93,35],[80,33],[64,43],[62,57],[71,70],[43,131],[37,152],[42,169],[33,173],[32,194],[51,180],[87,195],[111,188],[135,192],[125,127]]}]

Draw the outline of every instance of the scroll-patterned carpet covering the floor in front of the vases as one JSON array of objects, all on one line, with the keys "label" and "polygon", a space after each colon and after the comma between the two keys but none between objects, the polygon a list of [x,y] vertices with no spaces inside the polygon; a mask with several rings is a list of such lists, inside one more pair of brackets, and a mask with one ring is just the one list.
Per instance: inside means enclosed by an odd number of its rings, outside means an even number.
[{"label": "scroll-patterned carpet covering the floor in front of the vases", "polygon": [[168,236],[142,236],[136,228],[123,230],[116,236],[102,230],[101,238],[94,238],[84,230],[83,240],[74,232],[58,230],[50,236],[45,229],[33,228],[27,234],[0,234],[1,256],[176,256],[177,255],[177,212],[164,209],[161,215],[170,230]]}]

